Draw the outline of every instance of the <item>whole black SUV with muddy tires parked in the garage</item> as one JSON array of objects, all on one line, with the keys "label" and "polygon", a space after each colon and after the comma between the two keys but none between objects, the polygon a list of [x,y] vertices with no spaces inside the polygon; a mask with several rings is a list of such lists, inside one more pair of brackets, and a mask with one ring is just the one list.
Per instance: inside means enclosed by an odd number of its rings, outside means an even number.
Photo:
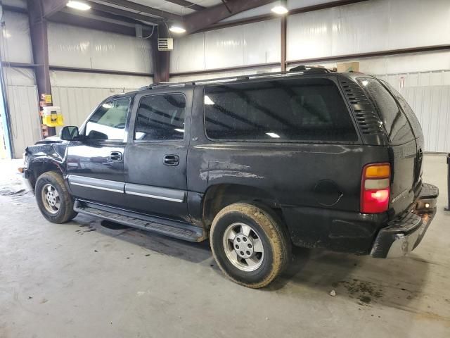
[{"label": "whole black SUV with muddy tires parked in the garage", "polygon": [[29,146],[23,172],[44,217],[77,213],[200,242],[248,287],[290,246],[402,256],[438,189],[423,134],[389,84],[297,68],[159,84],[103,101],[80,127]]}]

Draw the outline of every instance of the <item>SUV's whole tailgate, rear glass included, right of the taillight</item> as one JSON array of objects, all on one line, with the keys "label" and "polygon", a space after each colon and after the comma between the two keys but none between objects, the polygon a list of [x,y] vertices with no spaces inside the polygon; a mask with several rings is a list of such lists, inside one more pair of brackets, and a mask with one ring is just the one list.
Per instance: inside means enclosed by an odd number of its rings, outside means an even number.
[{"label": "SUV's whole tailgate, rear glass included, right of the taillight", "polygon": [[398,214],[413,203],[420,190],[421,177],[417,168],[421,149],[409,119],[387,87],[373,77],[359,78],[358,81],[378,109],[388,137],[392,165],[390,208]]}]

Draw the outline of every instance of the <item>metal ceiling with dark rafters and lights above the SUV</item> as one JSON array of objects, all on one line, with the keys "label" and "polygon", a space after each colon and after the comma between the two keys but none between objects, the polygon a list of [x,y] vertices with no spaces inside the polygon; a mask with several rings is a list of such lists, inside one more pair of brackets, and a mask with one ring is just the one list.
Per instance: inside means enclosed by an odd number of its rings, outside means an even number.
[{"label": "metal ceiling with dark rafters and lights above the SUV", "polygon": [[[30,0],[29,0],[30,1]],[[39,1],[39,0],[38,0]],[[182,22],[189,33],[203,30],[242,11],[274,0],[84,0],[91,9],[77,11],[67,0],[40,0],[47,20],[130,34],[136,24],[150,31],[160,23]]]}]

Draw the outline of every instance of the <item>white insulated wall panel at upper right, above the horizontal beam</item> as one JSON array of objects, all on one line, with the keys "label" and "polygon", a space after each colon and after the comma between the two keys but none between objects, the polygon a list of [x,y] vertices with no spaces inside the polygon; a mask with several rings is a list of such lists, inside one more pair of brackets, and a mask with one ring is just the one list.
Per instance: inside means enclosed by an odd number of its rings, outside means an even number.
[{"label": "white insulated wall panel at upper right, above the horizontal beam", "polygon": [[374,0],[290,15],[287,38],[288,60],[449,44],[450,1]]}]

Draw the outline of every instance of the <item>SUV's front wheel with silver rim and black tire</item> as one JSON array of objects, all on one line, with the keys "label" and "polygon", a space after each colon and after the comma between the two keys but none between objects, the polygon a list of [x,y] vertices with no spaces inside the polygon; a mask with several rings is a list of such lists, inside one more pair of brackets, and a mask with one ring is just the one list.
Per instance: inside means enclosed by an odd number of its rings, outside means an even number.
[{"label": "SUV's front wheel with silver rim and black tire", "polygon": [[39,210],[51,223],[67,223],[77,215],[72,196],[59,173],[49,171],[40,175],[34,192]]}]

